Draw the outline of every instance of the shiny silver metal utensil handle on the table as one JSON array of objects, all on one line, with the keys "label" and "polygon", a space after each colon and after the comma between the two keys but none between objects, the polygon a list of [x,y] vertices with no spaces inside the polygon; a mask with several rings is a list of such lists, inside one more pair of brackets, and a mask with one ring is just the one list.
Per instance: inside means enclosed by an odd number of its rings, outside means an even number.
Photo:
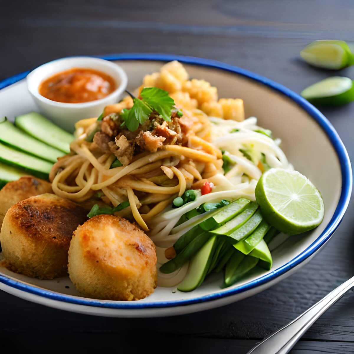
[{"label": "shiny silver metal utensil handle on the table", "polygon": [[290,349],[296,344],[299,338],[322,315],[322,313],[331,307],[353,286],[354,277],[339,285],[335,290],[331,291],[298,318],[264,338],[262,342],[258,343],[247,354],[289,353]]}]

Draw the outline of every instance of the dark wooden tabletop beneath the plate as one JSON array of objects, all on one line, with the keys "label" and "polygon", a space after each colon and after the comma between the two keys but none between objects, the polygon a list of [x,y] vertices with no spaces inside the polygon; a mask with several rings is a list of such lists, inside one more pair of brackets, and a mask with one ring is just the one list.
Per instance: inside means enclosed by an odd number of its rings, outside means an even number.
[{"label": "dark wooden tabletop beneath the plate", "polygon": [[[217,59],[296,92],[329,75],[354,76],[353,68],[332,73],[299,58],[315,39],[354,41],[349,0],[0,4],[0,79],[63,56],[121,52]],[[354,103],[323,113],[353,157]],[[246,353],[354,274],[353,209],[352,203],[324,250],[296,274],[223,308],[173,318],[114,319],[46,308],[0,292],[1,350],[11,344],[5,352]],[[332,306],[291,353],[354,353],[353,301],[350,292]]]}]

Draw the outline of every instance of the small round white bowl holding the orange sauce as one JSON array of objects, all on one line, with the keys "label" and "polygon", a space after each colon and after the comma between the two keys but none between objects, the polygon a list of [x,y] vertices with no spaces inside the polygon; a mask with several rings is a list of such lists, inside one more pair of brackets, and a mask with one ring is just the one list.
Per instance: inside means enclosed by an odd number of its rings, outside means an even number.
[{"label": "small round white bowl holding the orange sauce", "polygon": [[[84,103],[63,103],[52,101],[38,92],[40,83],[61,71],[73,68],[86,68],[101,71],[111,76],[116,89],[108,96]],[[98,117],[108,104],[118,102],[126,89],[127,74],[117,64],[104,59],[91,57],[71,57],[54,60],[41,65],[27,75],[27,87],[41,113],[59,127],[73,132],[75,123],[80,119]]]}]

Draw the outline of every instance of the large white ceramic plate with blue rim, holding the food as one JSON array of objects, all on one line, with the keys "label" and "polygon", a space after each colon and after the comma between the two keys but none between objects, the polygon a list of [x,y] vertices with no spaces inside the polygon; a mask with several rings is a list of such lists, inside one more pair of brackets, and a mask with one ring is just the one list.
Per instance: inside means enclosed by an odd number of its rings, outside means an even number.
[{"label": "large white ceramic plate with blue rim, holding the food", "polygon": [[[59,309],[116,317],[170,316],[223,306],[254,295],[293,273],[329,240],[347,209],[352,170],[346,149],[330,122],[312,105],[286,87],[231,65],[206,59],[126,54],[104,57],[119,62],[129,78],[128,89],[139,86],[147,73],[163,62],[179,60],[192,78],[218,87],[219,97],[242,98],[246,116],[282,139],[282,149],[295,169],[319,188],[325,203],[322,224],[312,232],[288,238],[273,252],[273,268],[257,270],[232,287],[221,289],[219,276],[208,278],[189,293],[158,287],[149,297],[133,302],[100,301],[82,297],[68,277],[38,280],[0,267],[0,289]],[[0,114],[10,120],[36,110],[27,91],[24,72],[0,82]]]}]

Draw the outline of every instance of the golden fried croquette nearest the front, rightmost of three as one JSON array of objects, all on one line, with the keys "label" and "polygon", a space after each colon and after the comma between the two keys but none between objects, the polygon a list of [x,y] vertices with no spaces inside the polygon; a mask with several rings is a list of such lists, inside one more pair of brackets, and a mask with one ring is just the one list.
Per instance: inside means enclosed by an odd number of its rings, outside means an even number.
[{"label": "golden fried croquette nearest the front, rightmost of three", "polygon": [[76,289],[86,296],[143,299],[156,287],[155,245],[126,219],[94,216],[74,232],[68,272]]}]

